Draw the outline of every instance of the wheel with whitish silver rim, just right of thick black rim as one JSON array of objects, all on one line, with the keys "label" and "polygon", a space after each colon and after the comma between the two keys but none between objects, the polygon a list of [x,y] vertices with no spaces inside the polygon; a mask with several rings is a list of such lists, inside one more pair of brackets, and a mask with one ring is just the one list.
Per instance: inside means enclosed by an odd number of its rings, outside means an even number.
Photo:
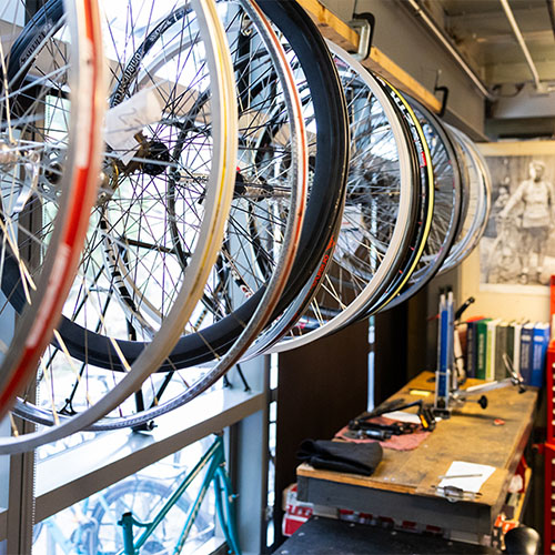
[{"label": "wheel with whitish silver rim, just right of thick black rim", "polygon": [[[341,48],[329,47],[351,127],[346,205],[320,292],[293,333],[273,351],[295,349],[347,325],[379,299],[398,271],[417,214],[420,175],[404,122],[374,78]],[[255,345],[259,353],[261,343]]]}]

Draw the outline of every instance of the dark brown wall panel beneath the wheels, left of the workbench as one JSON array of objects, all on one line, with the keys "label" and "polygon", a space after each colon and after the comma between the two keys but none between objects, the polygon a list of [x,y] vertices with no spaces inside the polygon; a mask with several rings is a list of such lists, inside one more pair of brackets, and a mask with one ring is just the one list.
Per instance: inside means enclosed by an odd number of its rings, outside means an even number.
[{"label": "dark brown wall panel beneath the wheels, left of the workbench", "polygon": [[295,454],[304,438],[330,440],[366,410],[367,322],[280,354],[275,461],[276,523],[281,493],[295,482]]}]

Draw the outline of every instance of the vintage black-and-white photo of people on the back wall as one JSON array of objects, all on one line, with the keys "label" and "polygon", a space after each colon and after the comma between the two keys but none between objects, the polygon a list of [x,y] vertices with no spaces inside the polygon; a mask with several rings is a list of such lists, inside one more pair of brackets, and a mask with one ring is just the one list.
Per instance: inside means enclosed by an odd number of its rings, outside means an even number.
[{"label": "vintage black-and-white photo of people on the back wall", "polygon": [[547,289],[555,274],[555,141],[480,144],[492,210],[480,243],[481,289]]}]

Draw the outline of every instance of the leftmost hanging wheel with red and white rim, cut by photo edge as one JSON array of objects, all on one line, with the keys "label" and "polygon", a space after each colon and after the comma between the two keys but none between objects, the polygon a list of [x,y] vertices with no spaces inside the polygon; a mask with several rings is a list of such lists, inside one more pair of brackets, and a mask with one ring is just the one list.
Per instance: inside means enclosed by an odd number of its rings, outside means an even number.
[{"label": "leftmost hanging wheel with red and white rim, cut by photo edge", "polygon": [[[98,8],[71,4],[57,32],[32,18],[26,51],[3,52],[28,12],[12,2],[14,21],[0,44],[0,274],[3,301],[0,417],[31,380],[73,281],[95,200],[103,118],[103,58]],[[1,12],[1,9],[0,9]],[[64,51],[59,60],[57,52]],[[28,72],[29,79],[23,75]],[[69,94],[68,94],[69,91]],[[9,269],[13,272],[9,274]],[[20,296],[19,315],[12,310]]]}]

